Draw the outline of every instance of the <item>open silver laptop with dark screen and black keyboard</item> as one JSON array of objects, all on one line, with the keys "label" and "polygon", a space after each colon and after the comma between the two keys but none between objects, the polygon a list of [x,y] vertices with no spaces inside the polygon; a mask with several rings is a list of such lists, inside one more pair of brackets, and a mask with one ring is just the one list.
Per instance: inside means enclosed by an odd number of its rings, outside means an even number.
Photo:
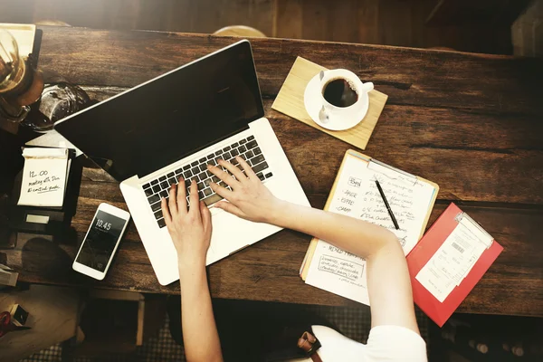
[{"label": "open silver laptop with dark screen and black keyboard", "polygon": [[[251,44],[243,40],[59,120],[54,129],[120,182],[149,260],[162,285],[178,280],[176,249],[160,208],[179,176],[195,179],[208,207],[221,196],[207,171],[217,159],[243,157],[273,195],[310,205],[264,117]],[[237,165],[241,168],[241,166]],[[211,208],[206,264],[281,228]]]}]

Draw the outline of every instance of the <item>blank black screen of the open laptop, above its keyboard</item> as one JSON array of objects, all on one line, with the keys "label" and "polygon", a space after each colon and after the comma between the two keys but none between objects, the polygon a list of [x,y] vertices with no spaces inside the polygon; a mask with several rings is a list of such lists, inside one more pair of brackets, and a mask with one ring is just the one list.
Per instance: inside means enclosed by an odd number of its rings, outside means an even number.
[{"label": "blank black screen of the open laptop, above its keyboard", "polygon": [[118,181],[146,176],[262,118],[251,45],[236,43],[57,122]]}]

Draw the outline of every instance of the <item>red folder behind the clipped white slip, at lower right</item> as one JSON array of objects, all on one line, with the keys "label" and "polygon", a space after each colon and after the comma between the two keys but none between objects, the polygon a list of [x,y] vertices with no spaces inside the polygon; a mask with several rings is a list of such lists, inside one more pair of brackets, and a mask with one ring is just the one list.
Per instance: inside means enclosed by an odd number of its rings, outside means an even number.
[{"label": "red folder behind the clipped white slip, at lower right", "polygon": [[458,224],[456,217],[459,214],[462,214],[462,210],[457,205],[449,205],[443,214],[433,223],[430,230],[424,234],[421,241],[407,255],[407,265],[409,267],[409,274],[411,275],[414,302],[439,327],[443,327],[443,324],[451,317],[454,310],[458,308],[462,300],[472,291],[475,284],[481,280],[484,273],[491,267],[492,262],[498,258],[498,255],[503,250],[503,247],[499,243],[493,241],[491,247],[482,252],[481,257],[475,263],[472,270],[466,275],[460,285],[455,287],[451,294],[443,300],[443,303],[437,300],[430,291],[427,291],[415,279],[415,276],[452,233]]}]

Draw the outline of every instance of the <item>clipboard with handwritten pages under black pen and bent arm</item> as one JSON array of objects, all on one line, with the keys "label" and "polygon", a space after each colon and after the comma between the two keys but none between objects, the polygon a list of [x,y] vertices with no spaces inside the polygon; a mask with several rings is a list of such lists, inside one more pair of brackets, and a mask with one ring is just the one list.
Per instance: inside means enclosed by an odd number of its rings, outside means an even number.
[{"label": "clipboard with handwritten pages under black pen and bent arm", "polygon": [[[399,230],[395,230],[376,180],[383,187]],[[433,182],[349,149],[324,209],[386,227],[398,237],[406,255],[422,237],[438,191]],[[363,258],[314,238],[300,276],[314,287],[369,305],[366,272]]]}]

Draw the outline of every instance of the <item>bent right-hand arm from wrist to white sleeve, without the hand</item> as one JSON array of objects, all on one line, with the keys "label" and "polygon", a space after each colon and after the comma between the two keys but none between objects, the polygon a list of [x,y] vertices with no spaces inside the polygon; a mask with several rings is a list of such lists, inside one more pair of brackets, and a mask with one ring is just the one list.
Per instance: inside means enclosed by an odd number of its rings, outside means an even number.
[{"label": "bent right-hand arm from wrist to white sleeve, without the hand", "polygon": [[341,214],[281,202],[271,224],[309,233],[367,260],[372,326],[395,325],[418,333],[404,251],[394,233]]}]

